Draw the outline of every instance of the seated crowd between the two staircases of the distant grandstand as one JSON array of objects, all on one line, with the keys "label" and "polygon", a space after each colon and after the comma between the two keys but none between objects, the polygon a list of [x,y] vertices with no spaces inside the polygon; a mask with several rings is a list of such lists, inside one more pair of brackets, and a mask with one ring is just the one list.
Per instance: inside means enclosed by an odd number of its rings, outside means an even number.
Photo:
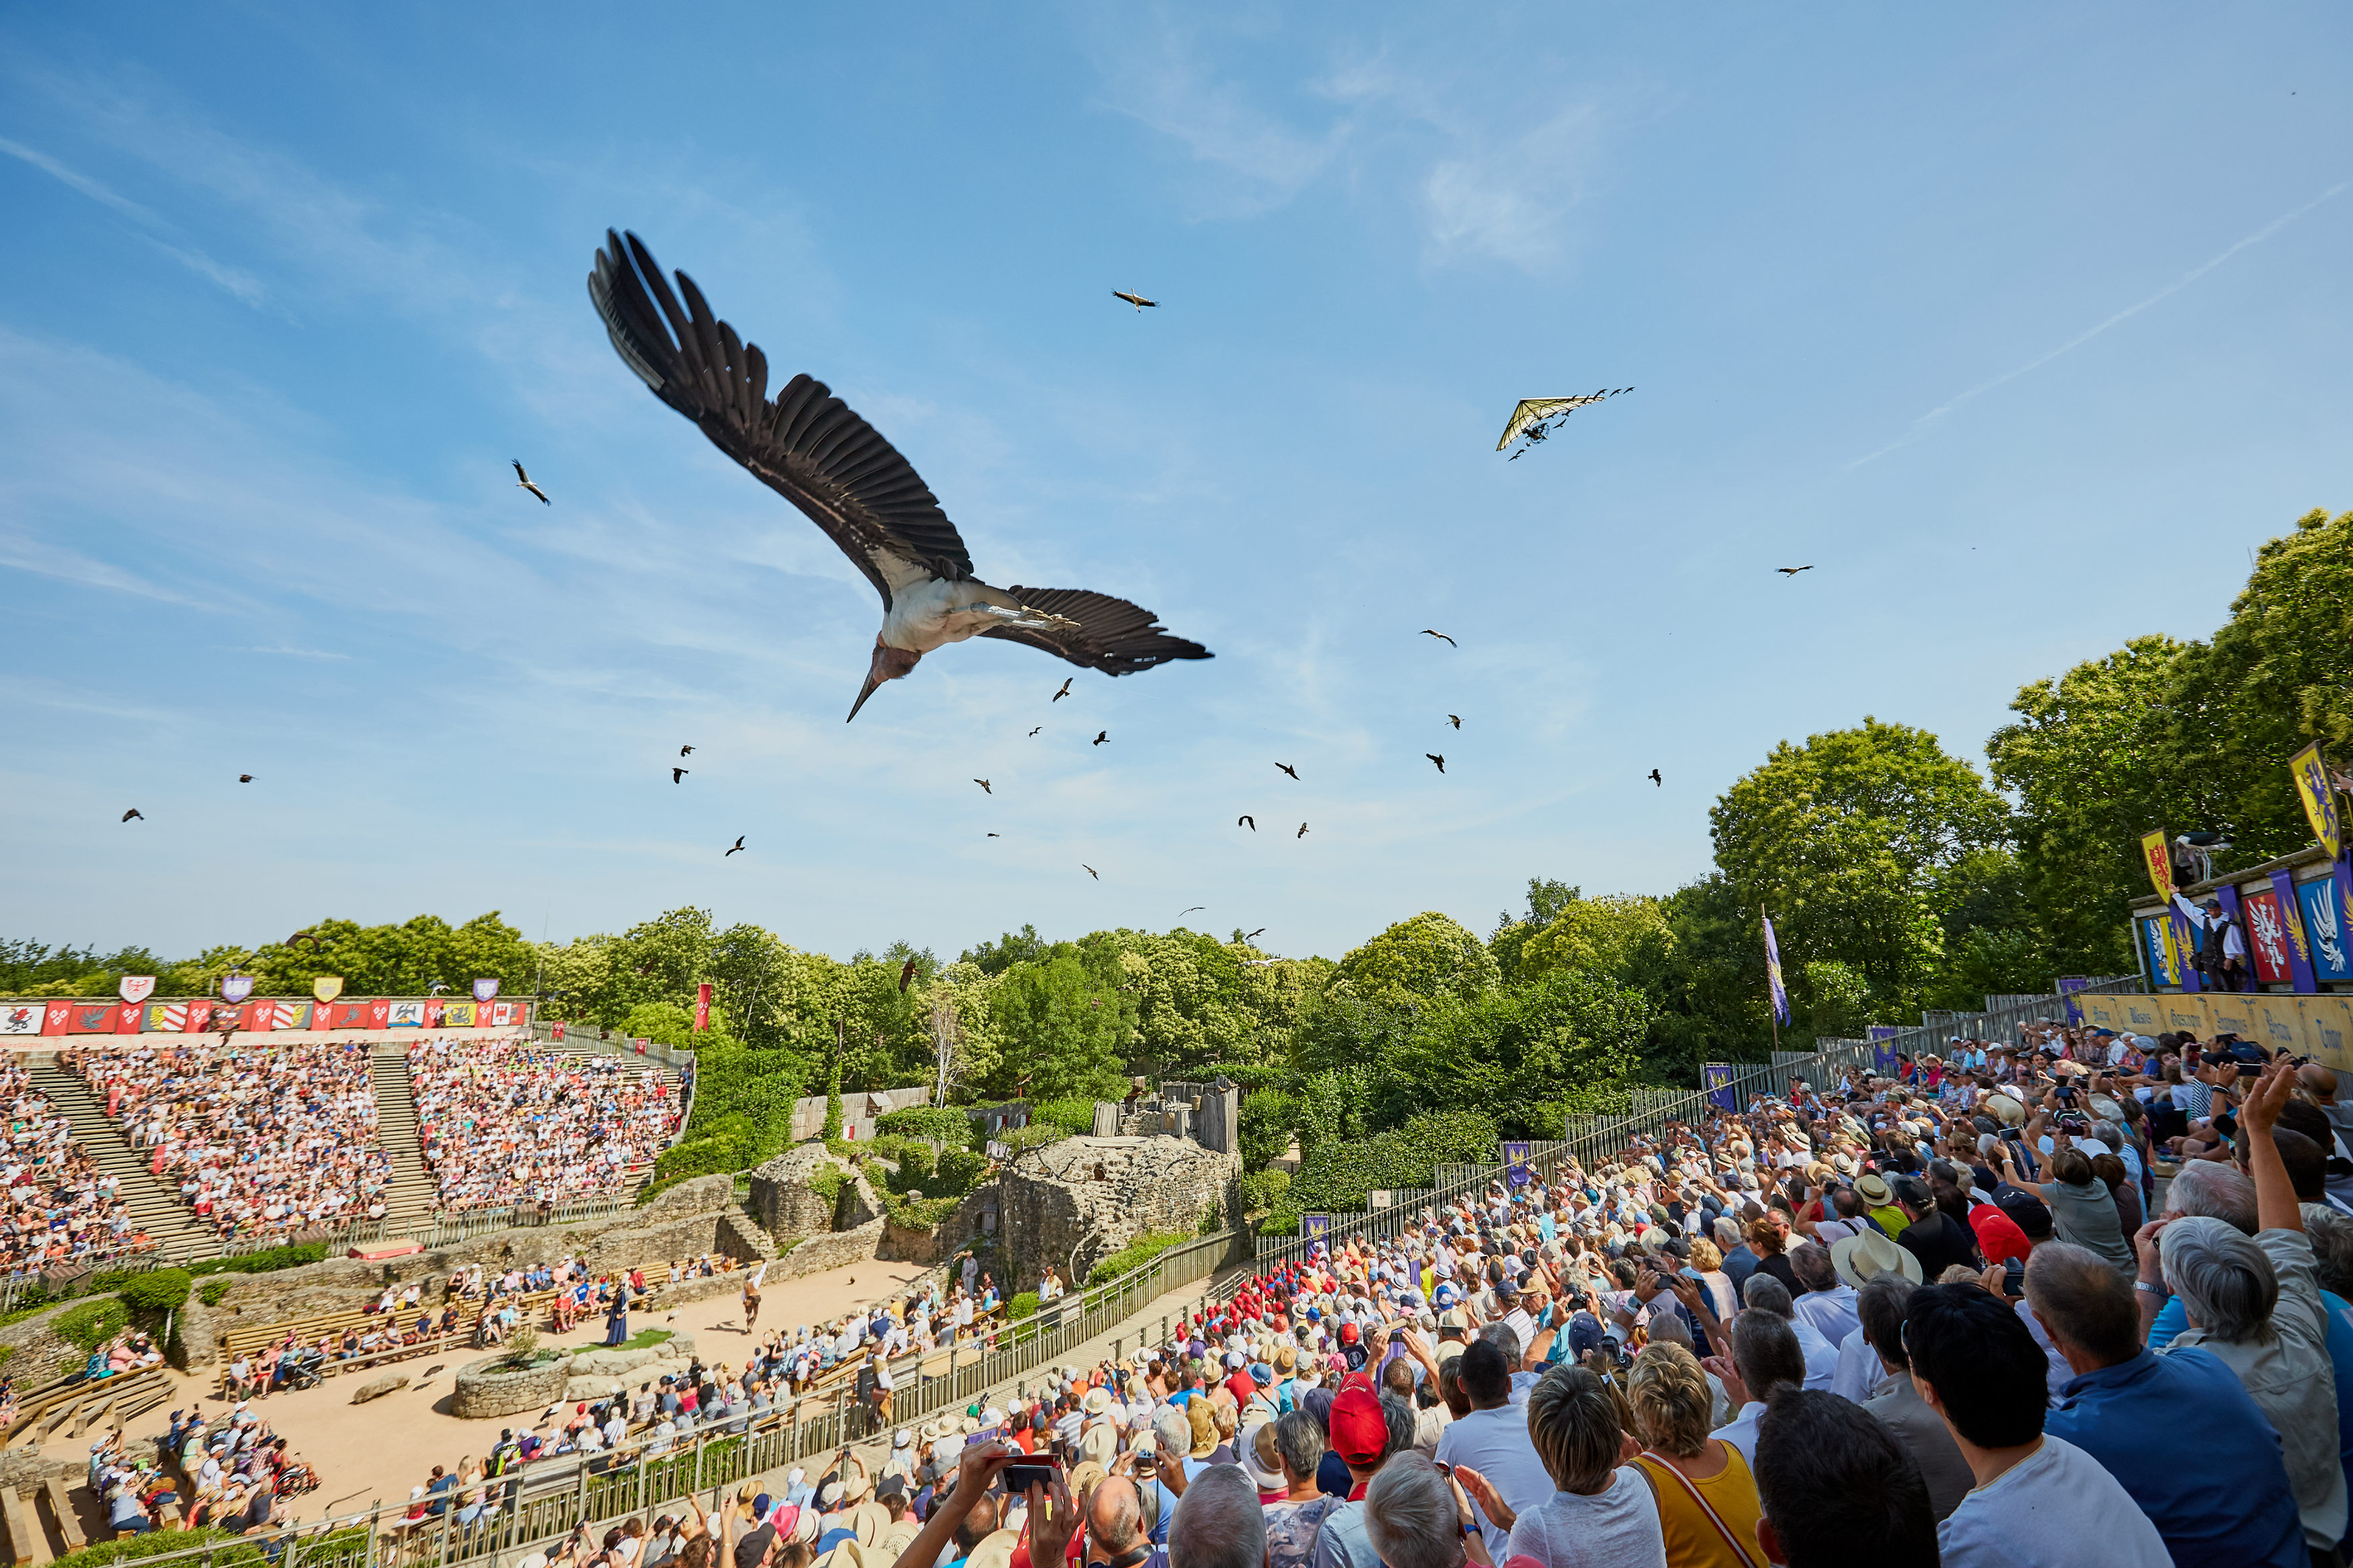
[{"label": "seated crowd between the two staircases of the distant grandstand", "polygon": [[365,1044],[141,1039],[59,1060],[224,1239],[384,1215]]}]

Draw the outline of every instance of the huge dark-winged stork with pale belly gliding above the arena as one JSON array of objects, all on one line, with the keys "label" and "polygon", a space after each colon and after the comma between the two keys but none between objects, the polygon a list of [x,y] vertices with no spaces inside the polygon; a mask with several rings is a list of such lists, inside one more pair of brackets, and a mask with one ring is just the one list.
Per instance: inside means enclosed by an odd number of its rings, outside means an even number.
[{"label": "huge dark-winged stork with pale belly gliding above the arena", "polygon": [[[793,376],[767,395],[767,355],[704,303],[678,273],[673,292],[638,235],[605,230],[588,299],[621,360],[701,428],[720,451],[807,512],[882,595],[859,717],[882,682],[967,637],[1002,637],[1087,670],[1134,675],[1172,658],[1209,658],[1148,609],[1085,588],[991,588],[915,465],[821,381]],[[685,299],[685,306],[680,306]]]}]

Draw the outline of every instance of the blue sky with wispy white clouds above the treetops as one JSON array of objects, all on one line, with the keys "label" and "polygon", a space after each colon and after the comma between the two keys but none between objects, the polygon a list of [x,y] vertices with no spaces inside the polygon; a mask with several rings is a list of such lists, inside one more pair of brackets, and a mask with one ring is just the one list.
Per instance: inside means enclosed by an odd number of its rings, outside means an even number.
[{"label": "blue sky with wispy white clouds above the treetops", "polygon": [[[1800,9],[7,7],[5,933],[1337,954],[1666,891],[1781,738],[1981,762],[2353,505],[2353,14]],[[875,595],[616,360],[607,226],[1217,658],[845,726]]]}]

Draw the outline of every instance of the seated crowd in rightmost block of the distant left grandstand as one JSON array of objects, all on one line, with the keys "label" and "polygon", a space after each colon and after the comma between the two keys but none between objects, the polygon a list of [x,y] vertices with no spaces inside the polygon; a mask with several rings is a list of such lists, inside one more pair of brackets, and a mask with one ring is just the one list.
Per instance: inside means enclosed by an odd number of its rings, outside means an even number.
[{"label": "seated crowd in rightmost block of the distant left grandstand", "polygon": [[631,1190],[680,1112],[649,1067],[508,1041],[419,1039],[409,1088],[442,1208]]}]

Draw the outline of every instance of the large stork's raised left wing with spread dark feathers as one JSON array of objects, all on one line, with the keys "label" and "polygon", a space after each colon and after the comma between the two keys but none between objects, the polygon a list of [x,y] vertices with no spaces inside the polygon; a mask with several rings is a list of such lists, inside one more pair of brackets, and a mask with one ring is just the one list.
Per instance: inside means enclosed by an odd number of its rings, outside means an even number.
[{"label": "large stork's raised left wing with spread dark feathers", "polygon": [[624,240],[607,228],[605,242],[588,275],[588,299],[614,350],[654,397],[807,512],[856,562],[885,607],[894,583],[972,576],[972,552],[896,447],[824,381],[793,376],[769,397],[767,355],[711,315],[692,277],[678,273],[673,294],[638,235]]}]

